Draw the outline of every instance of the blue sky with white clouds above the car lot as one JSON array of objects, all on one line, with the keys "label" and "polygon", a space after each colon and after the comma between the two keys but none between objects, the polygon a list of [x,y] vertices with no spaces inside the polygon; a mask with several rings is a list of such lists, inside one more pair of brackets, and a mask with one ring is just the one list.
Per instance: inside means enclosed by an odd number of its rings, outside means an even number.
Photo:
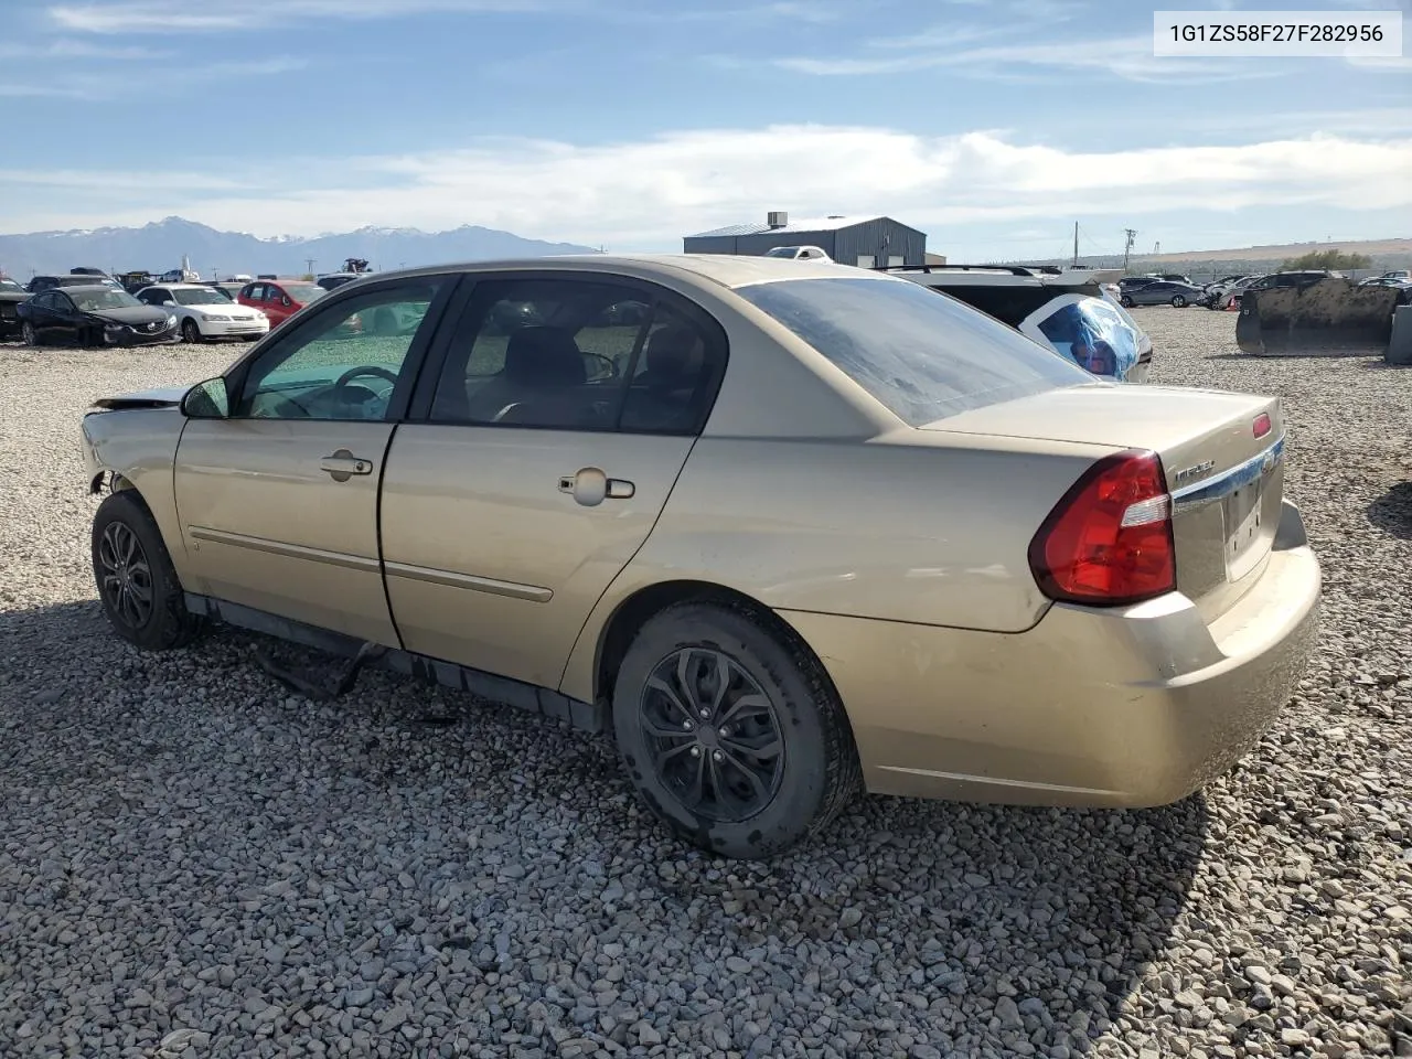
[{"label": "blue sky with white clouds above the car lot", "polygon": [[1152,55],[1155,7],[1286,6],[1412,0],[0,0],[0,232],[674,251],[782,209],[952,260],[1067,254],[1075,222],[1083,254],[1412,237],[1406,51]]}]

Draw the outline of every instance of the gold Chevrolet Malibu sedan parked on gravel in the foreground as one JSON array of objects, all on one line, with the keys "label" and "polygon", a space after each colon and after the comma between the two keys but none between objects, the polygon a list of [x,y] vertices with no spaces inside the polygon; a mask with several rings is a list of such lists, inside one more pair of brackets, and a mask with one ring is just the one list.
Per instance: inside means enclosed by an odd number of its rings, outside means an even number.
[{"label": "gold Chevrolet Malibu sedan parked on gravel in the foreground", "polygon": [[748,257],[378,274],[83,419],[120,635],[226,621],[611,730],[740,857],[860,789],[1142,806],[1230,768],[1316,634],[1284,431]]}]

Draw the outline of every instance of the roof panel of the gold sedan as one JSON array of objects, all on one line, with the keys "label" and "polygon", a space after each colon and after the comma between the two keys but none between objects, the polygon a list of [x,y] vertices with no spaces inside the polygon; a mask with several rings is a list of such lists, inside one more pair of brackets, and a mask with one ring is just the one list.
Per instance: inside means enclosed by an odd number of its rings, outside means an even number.
[{"label": "roof panel of the gold sedan", "polygon": [[[696,277],[734,289],[782,280],[875,280],[905,282],[885,273],[854,268],[836,261],[784,257],[736,257],[734,254],[565,254],[562,257],[518,257],[498,261],[465,261],[377,273],[378,280],[443,273],[544,271],[546,268],[587,273],[614,273],[662,278]],[[292,282],[301,282],[298,280]]]}]

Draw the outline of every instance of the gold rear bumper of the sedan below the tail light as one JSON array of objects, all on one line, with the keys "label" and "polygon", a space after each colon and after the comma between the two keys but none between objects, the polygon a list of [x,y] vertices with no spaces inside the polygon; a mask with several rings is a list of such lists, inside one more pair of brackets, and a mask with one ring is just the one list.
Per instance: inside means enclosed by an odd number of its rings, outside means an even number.
[{"label": "gold rear bumper of the sedan below the tail light", "polygon": [[1151,806],[1228,771],[1289,700],[1319,562],[1285,504],[1258,583],[1207,624],[1172,593],[1056,604],[1027,633],[781,611],[823,659],[875,794]]}]

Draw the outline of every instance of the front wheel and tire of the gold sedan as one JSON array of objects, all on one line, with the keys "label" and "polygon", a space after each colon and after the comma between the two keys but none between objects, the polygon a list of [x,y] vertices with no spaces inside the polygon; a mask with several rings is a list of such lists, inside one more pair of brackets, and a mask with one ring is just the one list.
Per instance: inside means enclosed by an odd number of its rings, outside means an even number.
[{"label": "front wheel and tire of the gold sedan", "polygon": [[113,631],[130,644],[167,651],[205,627],[186,610],[161,531],[131,490],[113,493],[93,515],[93,580]]}]

